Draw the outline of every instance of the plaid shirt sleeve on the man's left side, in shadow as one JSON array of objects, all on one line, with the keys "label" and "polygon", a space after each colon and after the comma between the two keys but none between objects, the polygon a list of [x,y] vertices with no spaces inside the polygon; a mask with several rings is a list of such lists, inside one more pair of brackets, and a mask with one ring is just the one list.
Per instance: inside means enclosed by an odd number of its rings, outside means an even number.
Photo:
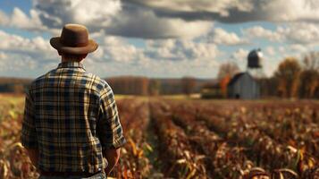
[{"label": "plaid shirt sleeve on the man's left side, in shadow", "polygon": [[21,144],[26,149],[38,149],[37,131],[35,126],[35,108],[30,90],[27,91],[25,97]]}]

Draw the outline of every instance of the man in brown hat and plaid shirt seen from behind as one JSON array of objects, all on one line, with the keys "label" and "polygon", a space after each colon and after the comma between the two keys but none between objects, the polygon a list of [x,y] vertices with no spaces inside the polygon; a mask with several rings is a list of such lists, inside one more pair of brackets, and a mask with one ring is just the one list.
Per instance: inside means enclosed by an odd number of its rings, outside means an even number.
[{"label": "man in brown hat and plaid shirt seen from behind", "polygon": [[41,179],[106,178],[126,141],[113,91],[80,63],[97,43],[86,27],[66,24],[50,44],[62,62],[31,83],[21,143]]}]

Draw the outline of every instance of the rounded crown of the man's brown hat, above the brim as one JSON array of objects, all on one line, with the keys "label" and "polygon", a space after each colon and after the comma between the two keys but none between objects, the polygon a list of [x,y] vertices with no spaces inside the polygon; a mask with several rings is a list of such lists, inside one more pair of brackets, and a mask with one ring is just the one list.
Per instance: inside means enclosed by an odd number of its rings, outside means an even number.
[{"label": "rounded crown of the man's brown hat, above the brim", "polygon": [[85,47],[88,45],[88,29],[79,24],[66,24],[60,40],[67,47]]}]

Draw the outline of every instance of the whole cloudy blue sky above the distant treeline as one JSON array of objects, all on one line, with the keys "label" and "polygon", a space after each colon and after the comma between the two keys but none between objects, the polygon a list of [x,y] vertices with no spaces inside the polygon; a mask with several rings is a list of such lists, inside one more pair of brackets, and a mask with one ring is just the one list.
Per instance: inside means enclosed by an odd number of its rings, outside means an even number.
[{"label": "whole cloudy blue sky above the distant treeline", "polygon": [[319,0],[0,0],[0,76],[56,68],[49,40],[66,23],[88,27],[99,47],[83,64],[102,78],[215,78],[224,63],[246,71],[256,48],[271,76],[319,50]]}]

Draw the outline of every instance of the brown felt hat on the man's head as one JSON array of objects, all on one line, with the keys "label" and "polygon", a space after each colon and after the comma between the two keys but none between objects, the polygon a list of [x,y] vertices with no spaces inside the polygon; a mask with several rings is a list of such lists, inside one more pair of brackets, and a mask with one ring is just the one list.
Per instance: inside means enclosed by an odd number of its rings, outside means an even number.
[{"label": "brown felt hat on the man's head", "polygon": [[97,50],[97,42],[88,39],[88,29],[79,24],[66,24],[61,37],[50,39],[50,44],[57,51],[67,54],[82,55]]}]

